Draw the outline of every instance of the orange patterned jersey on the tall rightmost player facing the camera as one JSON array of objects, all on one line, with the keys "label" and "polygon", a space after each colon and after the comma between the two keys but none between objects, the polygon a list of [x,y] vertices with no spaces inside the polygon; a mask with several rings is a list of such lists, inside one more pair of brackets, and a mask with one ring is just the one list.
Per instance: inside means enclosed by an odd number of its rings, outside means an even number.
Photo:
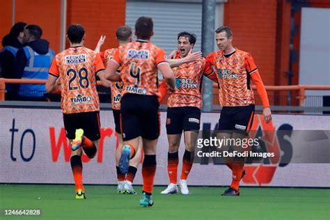
[{"label": "orange patterned jersey on the tall rightmost player facing the camera", "polygon": [[228,55],[217,51],[207,55],[206,60],[217,71],[221,106],[238,107],[255,103],[250,74],[258,69],[251,54],[239,49]]}]

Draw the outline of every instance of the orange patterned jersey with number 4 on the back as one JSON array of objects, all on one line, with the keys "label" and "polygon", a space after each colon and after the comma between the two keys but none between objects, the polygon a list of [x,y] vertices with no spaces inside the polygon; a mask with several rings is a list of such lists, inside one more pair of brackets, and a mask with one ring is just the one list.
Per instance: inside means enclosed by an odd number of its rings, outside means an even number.
[{"label": "orange patterned jersey with number 4 on the back", "polygon": [[123,80],[123,94],[157,95],[157,66],[166,61],[163,49],[152,45],[147,40],[137,40],[118,47],[113,56],[122,68],[120,77]]}]

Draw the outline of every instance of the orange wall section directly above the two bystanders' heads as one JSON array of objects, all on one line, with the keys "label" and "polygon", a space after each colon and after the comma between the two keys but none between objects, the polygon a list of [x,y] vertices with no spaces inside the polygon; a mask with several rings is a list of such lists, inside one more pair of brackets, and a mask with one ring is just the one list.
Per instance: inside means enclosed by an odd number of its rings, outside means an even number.
[{"label": "orange wall section directly above the two bystanders' heads", "polygon": [[61,31],[61,0],[16,0],[15,22],[38,24],[42,38],[58,52]]}]

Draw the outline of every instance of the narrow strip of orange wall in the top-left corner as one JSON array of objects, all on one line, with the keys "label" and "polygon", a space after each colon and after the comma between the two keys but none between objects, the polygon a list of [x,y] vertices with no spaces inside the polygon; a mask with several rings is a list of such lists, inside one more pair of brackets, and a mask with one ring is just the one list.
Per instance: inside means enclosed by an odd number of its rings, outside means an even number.
[{"label": "narrow strip of orange wall in the top-left corner", "polygon": [[[0,40],[9,33],[12,26],[12,16],[13,16],[13,2],[12,1],[2,1],[0,7]],[[2,45],[0,44],[2,49]]]}]

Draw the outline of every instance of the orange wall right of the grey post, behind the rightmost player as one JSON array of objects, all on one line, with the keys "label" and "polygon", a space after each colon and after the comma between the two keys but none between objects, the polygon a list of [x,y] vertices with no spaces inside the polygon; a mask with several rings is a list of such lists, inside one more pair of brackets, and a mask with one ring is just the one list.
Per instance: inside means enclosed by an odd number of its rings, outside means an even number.
[{"label": "orange wall right of the grey post, behind the rightmost player", "polygon": [[223,24],[233,30],[233,45],[250,52],[266,85],[275,84],[276,0],[230,0]]}]

